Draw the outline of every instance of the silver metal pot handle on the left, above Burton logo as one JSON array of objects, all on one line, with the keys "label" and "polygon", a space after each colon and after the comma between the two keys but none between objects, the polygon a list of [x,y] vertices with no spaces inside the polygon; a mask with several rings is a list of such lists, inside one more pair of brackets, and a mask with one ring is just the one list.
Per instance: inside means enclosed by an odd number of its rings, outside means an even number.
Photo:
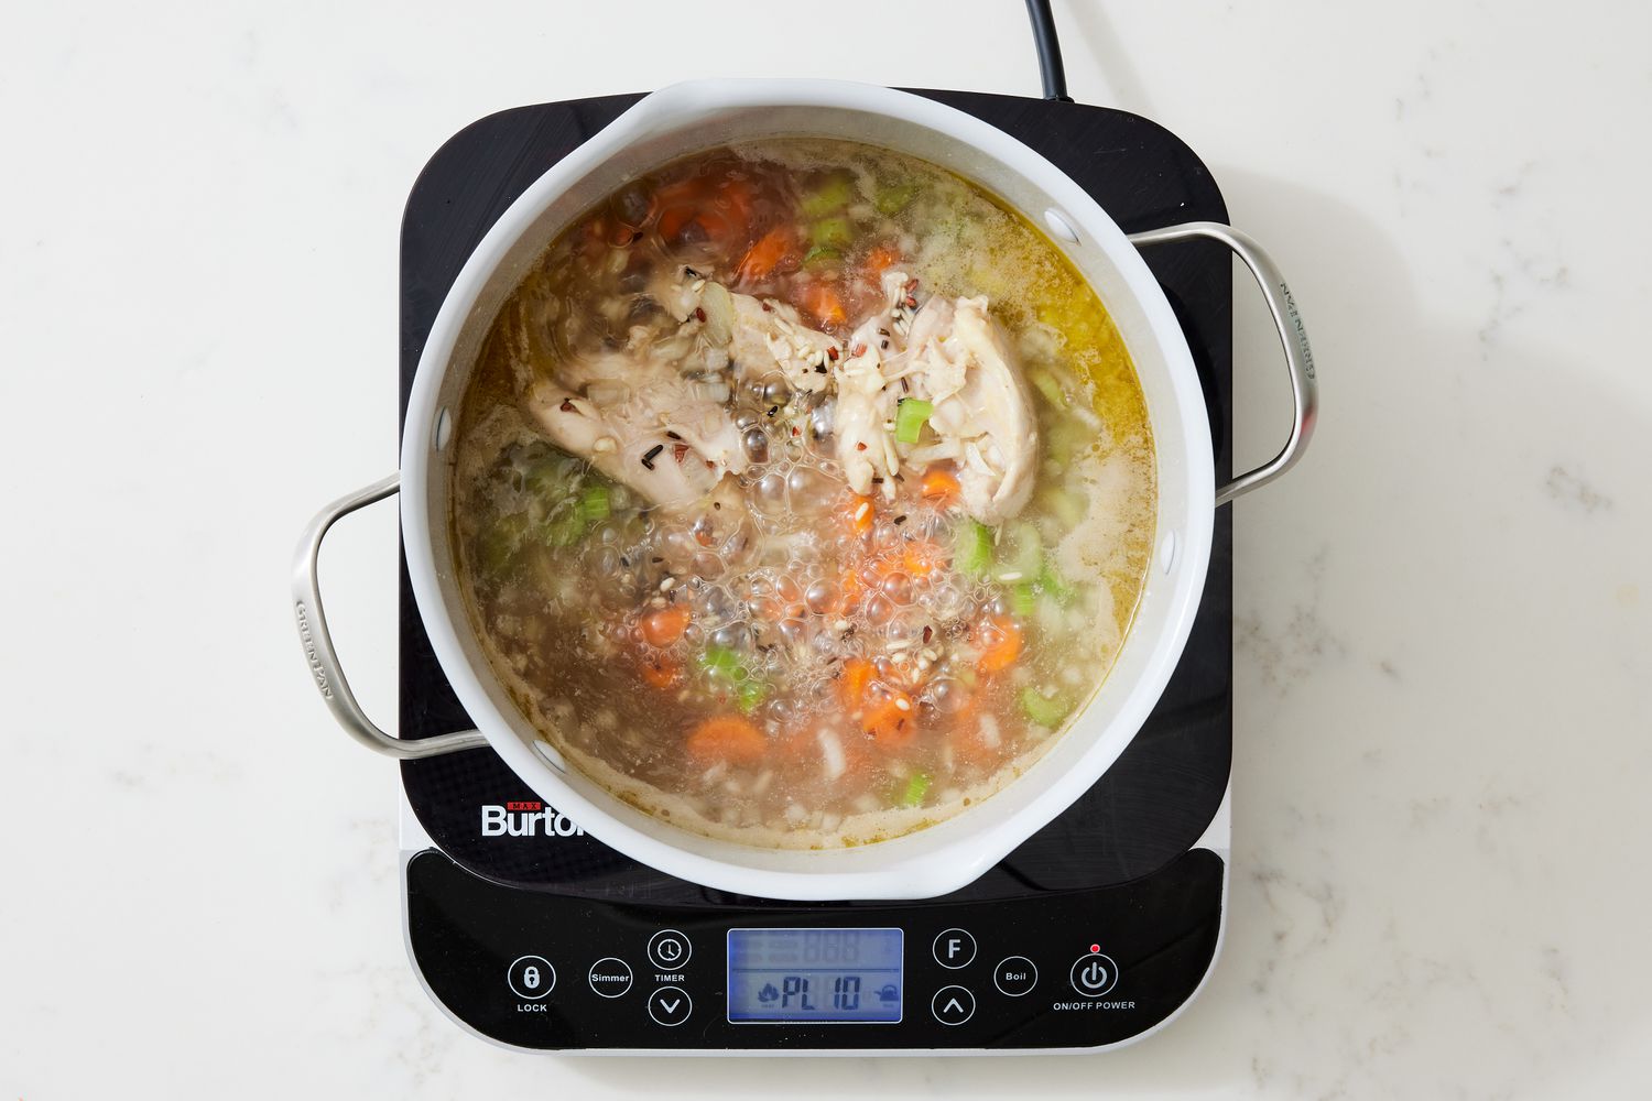
[{"label": "silver metal pot handle on the left, above Burton logo", "polygon": [[382,482],[373,482],[349,497],[340,497],[316,513],[316,518],[304,528],[292,560],[292,612],[299,621],[299,640],[304,644],[304,660],[311,667],[311,675],[316,678],[320,698],[327,702],[327,708],[339,725],[368,749],[401,761],[416,761],[459,749],[477,749],[486,746],[487,740],[479,731],[464,730],[438,738],[401,741],[367,718],[367,711],[355,702],[355,693],[350,692],[350,683],[344,678],[344,670],[339,669],[339,652],[332,649],[332,636],[327,632],[327,614],[320,606],[320,583],[316,576],[320,541],[327,538],[327,530],[340,517],[347,517],[357,508],[365,508],[395,494],[398,482],[400,475],[392,474]]}]

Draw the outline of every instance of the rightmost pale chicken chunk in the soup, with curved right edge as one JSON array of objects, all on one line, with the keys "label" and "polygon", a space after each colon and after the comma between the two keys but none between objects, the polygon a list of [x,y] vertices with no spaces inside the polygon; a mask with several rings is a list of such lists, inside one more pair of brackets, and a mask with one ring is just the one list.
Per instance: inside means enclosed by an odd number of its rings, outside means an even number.
[{"label": "rightmost pale chicken chunk in the soup, with curved right edge", "polygon": [[[897,310],[904,281],[900,272],[884,279]],[[890,479],[902,467],[917,474],[952,459],[970,515],[996,523],[1019,512],[1032,492],[1037,424],[1026,380],[1003,330],[986,314],[986,299],[933,297],[904,340],[902,324],[892,324],[889,337],[877,328],[874,319],[856,332],[851,350],[857,355],[836,371],[834,432],[849,485],[866,494],[872,479],[882,477],[884,494],[892,495]],[[894,437],[902,398],[935,406],[917,444]]]}]

